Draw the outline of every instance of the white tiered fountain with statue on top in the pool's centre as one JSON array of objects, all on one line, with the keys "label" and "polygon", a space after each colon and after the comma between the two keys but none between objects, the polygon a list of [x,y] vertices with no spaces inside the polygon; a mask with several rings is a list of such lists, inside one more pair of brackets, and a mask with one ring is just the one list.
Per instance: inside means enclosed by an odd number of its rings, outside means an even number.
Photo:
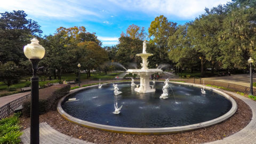
[{"label": "white tiered fountain with statue on top in the pool's centre", "polygon": [[148,92],[155,92],[156,89],[153,89],[153,87],[150,87],[149,81],[150,76],[155,73],[162,73],[162,69],[148,69],[148,57],[153,55],[151,53],[146,52],[147,46],[146,46],[146,40],[143,42],[143,51],[142,53],[136,54],[136,56],[139,56],[142,58],[141,69],[128,69],[127,73],[137,74],[140,76],[140,86],[136,87],[134,91],[140,92],[140,93],[148,93]]}]

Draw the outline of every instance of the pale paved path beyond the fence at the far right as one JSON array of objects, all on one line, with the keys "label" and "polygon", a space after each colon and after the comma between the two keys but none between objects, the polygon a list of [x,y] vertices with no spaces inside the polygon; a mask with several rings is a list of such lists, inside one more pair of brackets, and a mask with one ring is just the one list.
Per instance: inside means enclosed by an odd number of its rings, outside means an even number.
[{"label": "pale paved path beyond the fence at the far right", "polygon": [[[256,82],[256,74],[252,75],[252,81]],[[239,75],[231,75],[231,76],[218,76],[218,77],[205,77],[202,79],[209,79],[212,81],[220,81],[226,83],[233,83],[243,86],[250,87],[250,75],[248,74],[239,74]],[[256,88],[256,87],[255,87]]]}]

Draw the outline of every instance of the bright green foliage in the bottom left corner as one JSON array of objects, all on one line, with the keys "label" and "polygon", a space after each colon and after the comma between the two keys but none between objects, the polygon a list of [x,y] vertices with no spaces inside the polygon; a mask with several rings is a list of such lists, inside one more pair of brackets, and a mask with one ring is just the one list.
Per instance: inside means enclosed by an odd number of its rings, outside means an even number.
[{"label": "bright green foliage in the bottom left corner", "polygon": [[19,115],[14,114],[12,117],[1,119],[0,121],[0,143],[20,143],[21,127],[19,124]]}]

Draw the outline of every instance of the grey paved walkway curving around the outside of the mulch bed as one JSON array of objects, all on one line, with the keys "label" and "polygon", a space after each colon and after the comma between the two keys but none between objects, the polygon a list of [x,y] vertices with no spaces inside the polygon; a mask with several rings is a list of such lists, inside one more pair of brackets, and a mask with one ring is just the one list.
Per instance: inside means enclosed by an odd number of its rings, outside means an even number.
[{"label": "grey paved walkway curving around the outside of the mulch bed", "polygon": [[[224,90],[223,90],[224,91]],[[249,98],[245,98],[242,95],[224,91],[226,93],[233,94],[235,97],[243,100],[247,105],[252,109],[252,120],[251,122],[244,127],[241,131],[230,135],[229,137],[209,142],[208,144],[223,144],[223,143],[256,143],[256,101],[253,101]],[[30,129],[23,130],[23,135],[21,140],[23,143],[29,143],[29,131]],[[87,141],[82,141],[79,139],[71,138],[68,135],[62,134],[54,129],[47,123],[40,124],[40,143],[90,143]]]}]

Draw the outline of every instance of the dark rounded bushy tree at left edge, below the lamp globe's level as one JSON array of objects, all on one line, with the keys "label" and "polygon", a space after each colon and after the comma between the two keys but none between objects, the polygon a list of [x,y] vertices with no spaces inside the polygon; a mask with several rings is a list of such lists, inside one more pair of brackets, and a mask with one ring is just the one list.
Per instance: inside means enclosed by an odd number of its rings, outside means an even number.
[{"label": "dark rounded bushy tree at left edge, below the lamp globe's level", "polygon": [[6,63],[0,63],[0,79],[7,86],[17,83],[20,77],[20,68],[13,61],[7,61]]}]

